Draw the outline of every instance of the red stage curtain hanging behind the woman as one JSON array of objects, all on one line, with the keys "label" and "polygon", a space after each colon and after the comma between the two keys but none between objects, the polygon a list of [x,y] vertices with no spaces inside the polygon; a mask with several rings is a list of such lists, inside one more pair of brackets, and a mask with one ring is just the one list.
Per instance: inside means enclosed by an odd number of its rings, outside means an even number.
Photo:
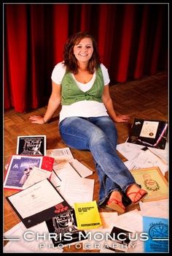
[{"label": "red stage curtain hanging behind the woman", "polygon": [[97,40],[111,83],[168,69],[168,4],[4,4],[4,109],[47,104],[52,69],[77,31]]}]

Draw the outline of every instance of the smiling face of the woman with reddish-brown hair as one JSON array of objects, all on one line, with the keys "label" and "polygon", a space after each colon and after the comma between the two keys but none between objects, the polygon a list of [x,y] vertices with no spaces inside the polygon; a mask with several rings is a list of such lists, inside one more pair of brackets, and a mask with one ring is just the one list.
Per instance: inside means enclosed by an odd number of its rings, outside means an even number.
[{"label": "smiling face of the woman with reddish-brown hair", "polygon": [[74,56],[79,62],[88,62],[93,55],[93,42],[89,37],[83,38],[77,45],[74,45]]}]

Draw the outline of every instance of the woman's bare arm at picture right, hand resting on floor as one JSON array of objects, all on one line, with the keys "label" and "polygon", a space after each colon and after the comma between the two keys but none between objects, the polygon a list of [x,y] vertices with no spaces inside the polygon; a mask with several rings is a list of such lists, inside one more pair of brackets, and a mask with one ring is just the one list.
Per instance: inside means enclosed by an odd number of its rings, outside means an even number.
[{"label": "woman's bare arm at picture right, hand resting on floor", "polygon": [[117,115],[117,113],[115,113],[112,98],[109,94],[109,85],[104,86],[102,100],[103,100],[103,104],[106,107],[107,113],[109,114],[109,116],[112,118],[114,122],[117,122],[117,123],[128,122],[129,120],[128,115]]}]

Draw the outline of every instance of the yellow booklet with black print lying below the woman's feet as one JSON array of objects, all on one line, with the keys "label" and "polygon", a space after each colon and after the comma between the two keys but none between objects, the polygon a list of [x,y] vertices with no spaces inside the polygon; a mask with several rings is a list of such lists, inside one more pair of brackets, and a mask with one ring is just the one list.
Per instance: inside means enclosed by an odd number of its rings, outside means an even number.
[{"label": "yellow booklet with black print lying below the woman's feet", "polygon": [[95,200],[87,203],[74,203],[74,211],[78,229],[90,230],[102,226]]}]

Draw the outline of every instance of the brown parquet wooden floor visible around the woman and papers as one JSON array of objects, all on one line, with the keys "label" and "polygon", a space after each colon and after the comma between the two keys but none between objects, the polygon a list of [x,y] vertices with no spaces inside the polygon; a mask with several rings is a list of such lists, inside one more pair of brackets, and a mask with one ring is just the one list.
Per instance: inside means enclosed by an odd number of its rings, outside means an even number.
[{"label": "brown parquet wooden floor visible around the woman and papers", "polygon": [[[127,83],[117,83],[110,87],[110,93],[117,113],[128,114],[130,122],[128,124],[117,124],[118,143],[123,143],[128,138],[133,118],[146,118],[168,120],[168,74],[159,72],[157,75],[132,80]],[[56,111],[49,124],[31,124],[29,116],[44,115],[46,110],[38,108],[30,113],[16,113],[14,110],[7,110],[4,113],[4,165],[7,164],[9,157],[16,153],[17,136],[19,135],[46,135],[47,149],[63,148],[66,144],[60,138],[58,132],[58,114]],[[71,148],[71,153],[75,159],[84,163],[94,170],[89,178],[95,179],[94,200],[98,200],[98,176],[95,173],[93,157],[88,151],[78,151]],[[122,160],[125,160],[121,155]],[[4,191],[4,231],[9,230],[20,220],[17,218],[12,208],[7,203],[5,197],[12,195],[14,191]],[[65,252],[74,252],[65,249]],[[77,249],[76,252],[81,252]],[[85,251],[87,252],[87,251]],[[88,251],[90,252],[90,251]],[[96,251],[93,251],[96,252]]]}]

